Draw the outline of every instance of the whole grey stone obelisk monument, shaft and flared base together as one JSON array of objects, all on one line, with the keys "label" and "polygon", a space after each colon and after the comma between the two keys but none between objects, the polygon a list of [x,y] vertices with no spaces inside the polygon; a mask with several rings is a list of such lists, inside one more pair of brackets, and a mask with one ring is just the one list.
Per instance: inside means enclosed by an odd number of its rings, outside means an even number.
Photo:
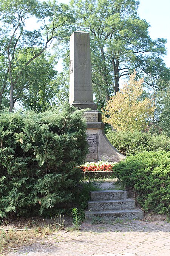
[{"label": "whole grey stone obelisk monument, shaft and flared base together", "polygon": [[70,104],[84,109],[89,154],[87,161],[119,162],[125,156],[117,151],[104,133],[104,123],[93,102],[89,33],[76,31],[70,37]]}]

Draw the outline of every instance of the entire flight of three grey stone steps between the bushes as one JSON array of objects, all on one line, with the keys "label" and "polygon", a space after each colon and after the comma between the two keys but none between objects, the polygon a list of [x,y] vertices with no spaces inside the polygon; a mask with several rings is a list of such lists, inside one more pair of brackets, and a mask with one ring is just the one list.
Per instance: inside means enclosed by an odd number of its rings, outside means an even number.
[{"label": "entire flight of three grey stone steps between the bushes", "polygon": [[144,218],[144,212],[136,209],[135,201],[128,198],[125,190],[91,191],[91,201],[88,201],[87,219],[94,217],[105,219],[139,220]]}]

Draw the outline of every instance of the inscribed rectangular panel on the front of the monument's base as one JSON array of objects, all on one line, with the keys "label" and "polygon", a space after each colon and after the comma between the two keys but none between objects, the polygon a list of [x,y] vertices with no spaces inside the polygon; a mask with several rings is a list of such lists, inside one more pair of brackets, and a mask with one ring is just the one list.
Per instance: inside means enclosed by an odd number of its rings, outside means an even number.
[{"label": "inscribed rectangular panel on the front of the monument's base", "polygon": [[97,134],[87,133],[87,141],[89,144],[89,154],[87,159],[97,159]]}]

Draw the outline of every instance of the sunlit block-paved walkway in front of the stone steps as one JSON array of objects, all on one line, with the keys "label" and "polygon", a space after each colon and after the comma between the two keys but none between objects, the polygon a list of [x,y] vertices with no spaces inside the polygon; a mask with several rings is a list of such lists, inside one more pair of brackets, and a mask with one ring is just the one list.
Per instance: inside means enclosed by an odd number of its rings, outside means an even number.
[{"label": "sunlit block-paved walkway in front of the stone steps", "polygon": [[84,223],[80,231],[59,231],[9,256],[170,256],[170,223]]}]

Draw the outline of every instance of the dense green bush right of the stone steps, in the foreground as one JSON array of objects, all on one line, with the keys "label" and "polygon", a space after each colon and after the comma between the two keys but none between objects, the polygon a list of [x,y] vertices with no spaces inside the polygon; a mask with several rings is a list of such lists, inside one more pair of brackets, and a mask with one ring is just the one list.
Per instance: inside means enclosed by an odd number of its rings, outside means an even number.
[{"label": "dense green bush right of the stone steps, in the foreground", "polygon": [[170,216],[170,152],[142,152],[114,166],[114,176],[133,190],[145,211]]}]

